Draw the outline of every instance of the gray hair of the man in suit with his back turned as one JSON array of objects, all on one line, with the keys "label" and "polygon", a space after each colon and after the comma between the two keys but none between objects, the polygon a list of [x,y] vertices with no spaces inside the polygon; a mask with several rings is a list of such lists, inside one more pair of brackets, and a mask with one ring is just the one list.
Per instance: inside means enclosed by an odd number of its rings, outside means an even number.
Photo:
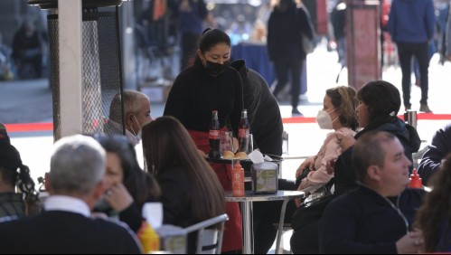
[{"label": "gray hair of the man in suit with his back turned", "polygon": [[63,137],[53,146],[52,190],[55,194],[89,194],[103,180],[105,164],[105,149],[93,137]]}]

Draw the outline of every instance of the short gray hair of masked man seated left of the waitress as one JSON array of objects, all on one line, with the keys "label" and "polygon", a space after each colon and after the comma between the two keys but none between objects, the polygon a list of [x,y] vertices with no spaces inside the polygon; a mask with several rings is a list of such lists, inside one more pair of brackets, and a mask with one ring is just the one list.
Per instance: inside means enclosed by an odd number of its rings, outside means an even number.
[{"label": "short gray hair of masked man seated left of the waitress", "polygon": [[[140,110],[139,99],[149,99],[145,93],[136,90],[124,90],[122,93],[124,97],[124,115],[127,116],[129,113],[138,113]],[[109,106],[109,119],[122,123],[122,105],[120,93],[111,100],[111,105]]]}]

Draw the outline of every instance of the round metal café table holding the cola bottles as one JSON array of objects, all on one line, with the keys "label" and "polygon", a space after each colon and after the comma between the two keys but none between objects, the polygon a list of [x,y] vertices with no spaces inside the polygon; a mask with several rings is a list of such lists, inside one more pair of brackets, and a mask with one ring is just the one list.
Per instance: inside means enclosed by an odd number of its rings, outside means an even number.
[{"label": "round metal caf\u00e9 table holding the cola bottles", "polygon": [[231,192],[226,192],[227,202],[240,202],[241,217],[243,222],[243,254],[254,253],[254,233],[252,226],[252,203],[283,200],[282,209],[280,211],[280,220],[278,222],[276,254],[279,252],[280,240],[283,233],[283,225],[285,221],[285,211],[287,203],[294,198],[304,198],[305,193],[299,191],[277,191],[276,194],[254,194],[253,191],[246,191],[244,196],[235,197]]}]

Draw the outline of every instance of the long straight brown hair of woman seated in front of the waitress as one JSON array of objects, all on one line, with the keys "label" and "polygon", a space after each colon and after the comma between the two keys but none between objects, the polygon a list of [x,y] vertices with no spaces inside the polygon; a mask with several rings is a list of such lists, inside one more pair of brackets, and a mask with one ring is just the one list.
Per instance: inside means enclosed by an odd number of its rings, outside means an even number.
[{"label": "long straight brown hair of woman seated in front of the waitress", "polygon": [[191,210],[201,222],[224,213],[225,195],[208,162],[199,154],[193,139],[176,118],[156,118],[142,128],[143,151],[149,171],[156,176],[180,167],[191,186]]}]

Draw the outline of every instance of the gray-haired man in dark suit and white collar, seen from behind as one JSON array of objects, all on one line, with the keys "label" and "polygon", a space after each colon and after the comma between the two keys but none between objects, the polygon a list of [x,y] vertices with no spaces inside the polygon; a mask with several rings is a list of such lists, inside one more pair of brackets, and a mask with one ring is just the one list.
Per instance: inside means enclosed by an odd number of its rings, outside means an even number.
[{"label": "gray-haired man in dark suit and white collar, seen from behind", "polygon": [[[91,218],[104,194],[106,153],[92,137],[63,137],[54,145],[43,212],[0,224],[0,254],[141,253],[125,224]],[[107,193],[108,194],[108,193]]]}]

